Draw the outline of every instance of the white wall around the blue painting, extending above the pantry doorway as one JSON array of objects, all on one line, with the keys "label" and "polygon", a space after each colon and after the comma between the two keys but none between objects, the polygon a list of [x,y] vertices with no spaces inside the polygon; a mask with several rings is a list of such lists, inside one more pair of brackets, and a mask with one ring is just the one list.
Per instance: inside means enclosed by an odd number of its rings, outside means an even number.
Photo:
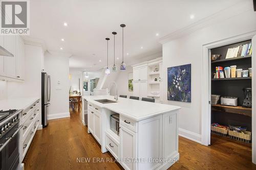
[{"label": "white wall around the blue painting, extending above the pantry doorway", "polygon": [[[245,21],[246,18],[246,22]],[[242,21],[242,23],[241,23]],[[202,45],[256,29],[256,12],[252,10],[215,22],[184,37],[163,44],[163,75],[167,79],[167,67],[191,63],[191,103],[167,101],[167,81],[164,103],[181,106],[179,112],[180,134],[201,142],[201,73]]]}]

